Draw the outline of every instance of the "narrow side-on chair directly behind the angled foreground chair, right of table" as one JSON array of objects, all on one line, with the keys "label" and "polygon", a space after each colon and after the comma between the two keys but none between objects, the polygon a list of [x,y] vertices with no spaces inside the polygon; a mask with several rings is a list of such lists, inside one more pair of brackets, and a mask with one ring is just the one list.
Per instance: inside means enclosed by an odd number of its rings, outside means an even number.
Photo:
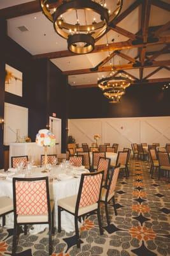
[{"label": "narrow side-on chair directly behind the angled foreground chair, right of table", "polygon": [[113,209],[115,211],[115,215],[117,216],[117,209],[115,207],[115,188],[117,185],[119,172],[120,172],[120,164],[118,164],[117,166],[115,166],[115,168],[110,170],[110,179],[108,180],[108,184],[106,184],[106,186],[104,186],[104,188],[102,188],[102,191],[101,191],[100,202],[104,203],[106,220],[107,220],[108,226],[110,225],[109,214],[108,214],[108,204],[110,200],[112,200],[113,202]]}]

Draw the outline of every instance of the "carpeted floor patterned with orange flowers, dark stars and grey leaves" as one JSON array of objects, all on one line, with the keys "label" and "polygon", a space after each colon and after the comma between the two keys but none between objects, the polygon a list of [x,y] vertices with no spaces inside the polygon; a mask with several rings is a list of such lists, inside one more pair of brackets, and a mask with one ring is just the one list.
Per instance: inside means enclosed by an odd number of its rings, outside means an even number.
[{"label": "carpeted floor patterned with orange flowers, dark stars and grey leaves", "polygon": [[[120,173],[117,183],[117,211],[110,206],[111,225],[103,215],[104,235],[99,235],[96,215],[81,227],[81,249],[76,248],[74,232],[53,236],[52,256],[154,256],[170,255],[170,184],[150,179],[147,162],[132,160],[130,177]],[[11,255],[12,229],[0,228],[0,255]],[[48,255],[48,230],[24,236],[20,230],[17,256]]]}]

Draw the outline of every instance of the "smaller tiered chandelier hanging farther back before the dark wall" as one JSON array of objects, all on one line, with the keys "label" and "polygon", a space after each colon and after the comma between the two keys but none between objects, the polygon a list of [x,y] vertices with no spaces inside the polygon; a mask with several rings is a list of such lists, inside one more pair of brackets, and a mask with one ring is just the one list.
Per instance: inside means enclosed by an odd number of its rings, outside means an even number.
[{"label": "smaller tiered chandelier hanging farther back before the dark wall", "polygon": [[103,95],[110,100],[110,103],[120,102],[120,98],[125,94],[125,89],[131,85],[131,80],[127,77],[119,76],[103,77],[97,81],[98,87],[104,91]]}]

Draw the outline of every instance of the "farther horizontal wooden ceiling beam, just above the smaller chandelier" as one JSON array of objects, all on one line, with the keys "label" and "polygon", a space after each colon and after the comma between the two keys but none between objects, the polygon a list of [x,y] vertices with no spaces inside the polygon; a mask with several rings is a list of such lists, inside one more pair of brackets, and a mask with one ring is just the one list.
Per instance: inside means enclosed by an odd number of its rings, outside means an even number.
[{"label": "farther horizontal wooden ceiling beam, just above the smaller chandelier", "polygon": [[[163,67],[163,66],[169,66],[170,65],[170,60],[164,60],[164,61],[153,61],[152,65],[150,63],[145,63],[144,68],[150,68],[150,67]],[[115,65],[116,70],[128,70],[128,69],[135,69],[135,68],[140,68],[138,65],[133,65],[133,64],[125,64],[125,65]],[[111,67],[110,66],[104,66],[104,67],[99,67],[98,70],[94,70],[94,68],[83,68],[83,69],[78,69],[78,70],[67,70],[62,72],[62,74],[71,76],[71,75],[80,75],[80,74],[92,74],[92,73],[97,73],[97,72],[110,72]]]}]

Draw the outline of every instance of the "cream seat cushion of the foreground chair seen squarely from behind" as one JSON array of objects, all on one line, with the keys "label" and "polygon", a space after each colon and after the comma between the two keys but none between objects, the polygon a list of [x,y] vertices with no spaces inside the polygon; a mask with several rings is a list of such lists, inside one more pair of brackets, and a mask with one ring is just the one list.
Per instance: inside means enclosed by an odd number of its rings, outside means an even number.
[{"label": "cream seat cushion of the foreground chair seen squarely from behind", "polygon": [[[54,207],[54,201],[50,200],[51,211]],[[18,223],[48,222],[48,214],[46,215],[18,215]]]}]

